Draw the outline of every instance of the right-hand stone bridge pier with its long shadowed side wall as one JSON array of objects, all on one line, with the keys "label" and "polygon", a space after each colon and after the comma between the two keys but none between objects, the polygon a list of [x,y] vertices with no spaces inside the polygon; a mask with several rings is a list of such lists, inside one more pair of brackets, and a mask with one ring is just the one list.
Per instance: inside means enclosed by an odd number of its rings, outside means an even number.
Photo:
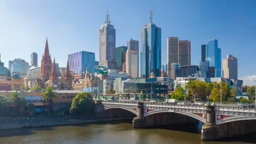
[{"label": "right-hand stone bridge pier with its long shadowed side wall", "polygon": [[202,127],[202,140],[224,139],[256,132],[256,120],[237,120],[216,125],[214,106],[206,107],[206,123]]}]

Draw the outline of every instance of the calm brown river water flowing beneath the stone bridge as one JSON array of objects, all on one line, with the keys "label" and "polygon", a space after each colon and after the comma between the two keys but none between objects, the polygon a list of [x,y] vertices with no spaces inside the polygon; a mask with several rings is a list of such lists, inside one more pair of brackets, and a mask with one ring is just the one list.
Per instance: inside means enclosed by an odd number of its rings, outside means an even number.
[{"label": "calm brown river water flowing beneath the stone bridge", "polygon": [[[91,123],[0,131],[0,144],[248,144],[255,134],[221,141],[201,141],[200,125],[133,129],[129,122]],[[189,130],[189,131],[188,131]]]}]

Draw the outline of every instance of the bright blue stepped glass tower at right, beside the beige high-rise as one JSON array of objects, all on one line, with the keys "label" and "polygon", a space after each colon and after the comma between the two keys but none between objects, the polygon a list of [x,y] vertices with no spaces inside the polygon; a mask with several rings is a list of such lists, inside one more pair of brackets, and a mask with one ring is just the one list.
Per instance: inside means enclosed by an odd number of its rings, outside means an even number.
[{"label": "bright blue stepped glass tower at right, beside the beige high-rise", "polygon": [[209,62],[209,77],[221,77],[221,49],[218,48],[218,40],[209,40],[202,45],[202,61]]}]

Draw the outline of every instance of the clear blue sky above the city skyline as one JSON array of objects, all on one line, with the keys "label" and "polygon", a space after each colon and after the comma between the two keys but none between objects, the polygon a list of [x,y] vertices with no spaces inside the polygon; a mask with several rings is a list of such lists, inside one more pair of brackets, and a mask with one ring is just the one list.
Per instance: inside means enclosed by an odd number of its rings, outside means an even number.
[{"label": "clear blue sky above the city skyline", "polygon": [[8,67],[15,58],[42,59],[45,40],[60,67],[67,55],[91,51],[99,60],[99,28],[106,11],[116,29],[116,46],[140,40],[149,22],[162,29],[162,64],[167,37],[191,41],[191,61],[198,64],[201,45],[219,40],[222,59],[238,58],[238,76],[256,75],[256,0],[0,0],[0,53]]}]

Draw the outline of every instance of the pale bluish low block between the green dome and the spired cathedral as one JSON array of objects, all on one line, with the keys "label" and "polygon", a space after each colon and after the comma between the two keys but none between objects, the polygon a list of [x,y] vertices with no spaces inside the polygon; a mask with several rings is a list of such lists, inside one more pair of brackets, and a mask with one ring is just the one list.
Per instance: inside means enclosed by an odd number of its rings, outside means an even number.
[{"label": "pale bluish low block between the green dome and the spired cathedral", "polygon": [[9,70],[11,75],[19,75],[20,77],[25,77],[30,66],[29,63],[23,59],[14,59],[14,61],[9,61]]}]

